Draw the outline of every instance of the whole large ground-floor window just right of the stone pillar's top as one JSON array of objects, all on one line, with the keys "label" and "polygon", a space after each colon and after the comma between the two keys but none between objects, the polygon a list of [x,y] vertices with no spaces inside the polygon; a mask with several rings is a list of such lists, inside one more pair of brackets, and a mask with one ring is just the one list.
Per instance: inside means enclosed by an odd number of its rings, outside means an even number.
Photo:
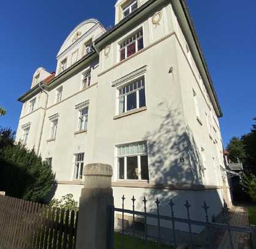
[{"label": "whole large ground-floor window just right of the stone pillar's top", "polygon": [[118,179],[149,179],[146,142],[118,146]]}]

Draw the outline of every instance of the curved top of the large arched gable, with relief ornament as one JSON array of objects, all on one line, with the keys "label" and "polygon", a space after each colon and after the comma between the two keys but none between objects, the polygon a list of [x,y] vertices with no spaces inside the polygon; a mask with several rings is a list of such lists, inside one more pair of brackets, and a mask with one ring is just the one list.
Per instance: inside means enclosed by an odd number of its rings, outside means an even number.
[{"label": "curved top of the large arched gable, with relief ornament", "polygon": [[94,28],[94,26],[96,26],[97,24],[102,27],[102,30],[105,30],[102,24],[96,19],[88,19],[78,24],[78,26],[75,27],[72,32],[70,32],[70,34],[62,44],[57,57],[59,56],[59,54],[63,53],[67,48],[69,48],[70,45],[80,39],[82,35],[84,35],[90,29]]}]

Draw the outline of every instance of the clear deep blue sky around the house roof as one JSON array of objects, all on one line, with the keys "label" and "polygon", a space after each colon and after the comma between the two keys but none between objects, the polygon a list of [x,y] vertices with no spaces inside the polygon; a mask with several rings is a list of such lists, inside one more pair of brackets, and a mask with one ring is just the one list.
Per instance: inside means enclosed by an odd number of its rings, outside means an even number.
[{"label": "clear deep blue sky around the house roof", "polygon": [[[34,71],[56,68],[55,56],[77,24],[97,18],[113,25],[116,0],[1,2],[0,105],[8,114],[0,126],[16,130],[21,103]],[[201,47],[216,87],[224,117],[224,144],[249,132],[256,116],[256,1],[188,0]]]}]

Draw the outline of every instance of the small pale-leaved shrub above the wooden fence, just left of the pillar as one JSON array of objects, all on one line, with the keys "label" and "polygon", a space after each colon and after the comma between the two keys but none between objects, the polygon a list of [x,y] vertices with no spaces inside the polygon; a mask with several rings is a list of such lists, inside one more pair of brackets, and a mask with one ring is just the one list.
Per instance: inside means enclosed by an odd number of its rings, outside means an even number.
[{"label": "small pale-leaved shrub above the wooden fence, just left of the pillar", "polygon": [[78,211],[78,202],[73,199],[72,194],[62,196],[61,199],[53,198],[50,202],[50,206],[59,209],[75,210],[75,212]]}]

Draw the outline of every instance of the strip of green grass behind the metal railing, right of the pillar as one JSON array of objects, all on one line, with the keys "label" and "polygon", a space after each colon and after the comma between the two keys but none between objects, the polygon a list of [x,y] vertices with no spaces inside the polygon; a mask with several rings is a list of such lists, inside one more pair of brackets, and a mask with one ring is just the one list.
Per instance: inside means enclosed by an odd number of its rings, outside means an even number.
[{"label": "strip of green grass behind the metal railing, right of the pillar", "polygon": [[[124,239],[124,248],[122,248],[122,239]],[[115,249],[144,249],[145,247],[145,240],[134,238],[132,236],[124,235],[115,233]],[[148,241],[148,249],[158,249],[158,243]],[[170,245],[161,245],[161,249],[171,249]]]}]

